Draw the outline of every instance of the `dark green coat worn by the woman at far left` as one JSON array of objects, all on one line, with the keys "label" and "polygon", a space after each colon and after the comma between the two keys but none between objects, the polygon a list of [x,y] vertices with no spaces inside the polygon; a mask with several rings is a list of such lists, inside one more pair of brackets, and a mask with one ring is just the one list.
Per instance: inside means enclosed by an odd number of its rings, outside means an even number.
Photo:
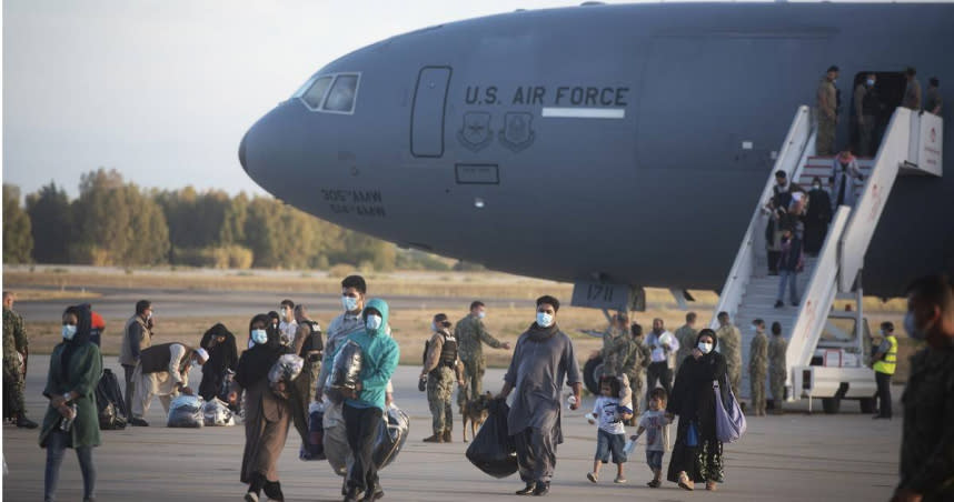
[{"label": "dark green coat worn by the woman at far left", "polygon": [[[80,446],[98,446],[99,438],[99,413],[96,408],[96,385],[102,376],[102,355],[99,353],[99,348],[92,342],[77,349],[72,358],[67,374],[63,375],[60,371],[60,358],[62,357],[66,343],[60,343],[53,348],[53,353],[50,355],[50,372],[47,376],[47,388],[43,389],[43,395],[50,398],[52,395],[63,395],[67,392],[73,391],[79,394],[77,398],[77,418],[72,426],[72,448]],[[40,430],[40,448],[46,448],[47,436],[53,428],[60,425],[60,412],[53,406],[47,406],[47,414],[43,416],[43,428]]]}]

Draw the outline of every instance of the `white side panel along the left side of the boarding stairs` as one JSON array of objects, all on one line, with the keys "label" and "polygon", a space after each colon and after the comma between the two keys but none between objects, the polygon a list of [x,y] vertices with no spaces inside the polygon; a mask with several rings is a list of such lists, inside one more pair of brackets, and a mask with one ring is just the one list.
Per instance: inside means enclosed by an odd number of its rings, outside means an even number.
[{"label": "white side panel along the left side of the boarding stairs", "polygon": [[742,239],[742,245],[735,255],[735,261],[728,272],[725,285],[723,285],[719,293],[719,300],[709,321],[710,328],[715,329],[718,327],[716,320],[718,312],[726,311],[733,319],[735,318],[738,304],[742,302],[742,295],[745,293],[745,288],[748,285],[748,280],[755,268],[753,242],[755,232],[763,231],[763,229],[757,227],[762,222],[763,204],[765,204],[765,201],[773,193],[772,187],[775,184],[775,172],[779,170],[785,171],[788,174],[789,182],[794,182],[795,172],[808,152],[813,129],[809,108],[804,104],[798,107],[795,118],[792,120],[792,126],[788,127],[788,132],[785,134],[785,141],[782,143],[778,157],[775,159],[775,164],[768,173],[768,181],[766,181],[765,188],[762,189],[762,194],[755,204],[755,212],[748,222],[748,229],[746,229],[745,237]]}]

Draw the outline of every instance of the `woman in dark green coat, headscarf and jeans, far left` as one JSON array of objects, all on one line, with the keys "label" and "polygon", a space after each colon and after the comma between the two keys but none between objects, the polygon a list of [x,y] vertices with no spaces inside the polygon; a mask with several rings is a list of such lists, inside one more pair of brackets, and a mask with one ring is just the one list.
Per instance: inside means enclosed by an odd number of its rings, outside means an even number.
[{"label": "woman in dark green coat, headscarf and jeans, far left", "polygon": [[83,502],[95,501],[96,466],[92,448],[99,446],[99,416],[96,385],[102,376],[102,357],[90,342],[92,317],[89,305],[70,307],[63,312],[63,341],[53,348],[43,395],[50,400],[40,448],[47,449],[43,500],[52,502],[57,493],[60,465],[67,448],[72,448],[82,471]]}]

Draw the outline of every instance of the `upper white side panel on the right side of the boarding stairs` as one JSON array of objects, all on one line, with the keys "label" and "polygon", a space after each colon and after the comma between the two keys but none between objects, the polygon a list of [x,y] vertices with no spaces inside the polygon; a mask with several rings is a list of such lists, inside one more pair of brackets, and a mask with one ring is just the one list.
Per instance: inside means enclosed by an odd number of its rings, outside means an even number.
[{"label": "upper white side panel on the right side of the boarding stairs", "polygon": [[854,288],[898,170],[907,160],[912,113],[907,108],[897,108],[891,116],[871,173],[848,219],[839,252],[838,289],[842,292],[851,292]]}]

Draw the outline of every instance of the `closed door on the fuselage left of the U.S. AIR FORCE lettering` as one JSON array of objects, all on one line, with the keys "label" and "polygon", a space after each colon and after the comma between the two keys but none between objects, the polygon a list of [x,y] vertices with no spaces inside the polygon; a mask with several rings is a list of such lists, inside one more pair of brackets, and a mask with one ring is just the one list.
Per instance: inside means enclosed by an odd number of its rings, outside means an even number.
[{"label": "closed door on the fuselage left of the U.S. AIR FORCE lettering", "polygon": [[418,73],[410,114],[414,157],[444,155],[444,109],[449,82],[449,67],[424,67]]}]

